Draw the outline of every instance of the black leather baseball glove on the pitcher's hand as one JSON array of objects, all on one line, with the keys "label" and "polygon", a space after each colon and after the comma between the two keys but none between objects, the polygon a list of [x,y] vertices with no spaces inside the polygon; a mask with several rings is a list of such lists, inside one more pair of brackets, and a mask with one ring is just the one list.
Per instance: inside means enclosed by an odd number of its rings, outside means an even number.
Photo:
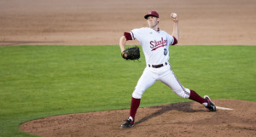
[{"label": "black leather baseball glove on the pitcher's hand", "polygon": [[125,60],[138,60],[141,57],[140,49],[137,46],[125,49],[121,55]]}]

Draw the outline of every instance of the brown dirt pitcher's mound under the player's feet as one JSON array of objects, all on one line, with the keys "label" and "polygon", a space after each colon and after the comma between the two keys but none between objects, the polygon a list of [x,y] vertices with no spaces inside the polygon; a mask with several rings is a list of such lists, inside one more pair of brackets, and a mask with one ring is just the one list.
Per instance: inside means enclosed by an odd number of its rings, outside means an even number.
[{"label": "brown dirt pitcher's mound under the player's feet", "polygon": [[129,110],[99,111],[45,117],[20,125],[20,130],[49,137],[63,136],[255,136],[256,103],[245,100],[212,100],[218,109],[209,112],[196,102],[139,108],[132,128],[120,128]]}]

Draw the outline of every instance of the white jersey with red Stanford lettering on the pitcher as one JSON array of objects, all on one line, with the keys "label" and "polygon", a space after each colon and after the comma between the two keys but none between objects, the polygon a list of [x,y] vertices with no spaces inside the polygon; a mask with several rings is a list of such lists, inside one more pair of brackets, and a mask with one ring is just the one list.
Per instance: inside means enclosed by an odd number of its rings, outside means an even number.
[{"label": "white jersey with red Stanford lettering on the pitcher", "polygon": [[174,38],[166,31],[143,27],[130,33],[132,40],[137,39],[141,43],[147,64],[159,65],[168,62],[169,45],[172,45]]}]

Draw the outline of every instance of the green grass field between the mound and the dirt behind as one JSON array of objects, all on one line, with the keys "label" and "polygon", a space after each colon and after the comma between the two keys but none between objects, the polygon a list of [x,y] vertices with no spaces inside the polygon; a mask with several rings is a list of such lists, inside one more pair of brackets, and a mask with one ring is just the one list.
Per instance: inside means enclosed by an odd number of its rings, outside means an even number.
[{"label": "green grass field between the mound and the dirt behind", "polygon": [[[130,108],[140,61],[123,60],[118,46],[0,47],[0,136],[31,136],[19,125],[40,117]],[[175,46],[170,63],[198,94],[256,101],[255,46]],[[157,82],[141,107],[183,101]]]}]

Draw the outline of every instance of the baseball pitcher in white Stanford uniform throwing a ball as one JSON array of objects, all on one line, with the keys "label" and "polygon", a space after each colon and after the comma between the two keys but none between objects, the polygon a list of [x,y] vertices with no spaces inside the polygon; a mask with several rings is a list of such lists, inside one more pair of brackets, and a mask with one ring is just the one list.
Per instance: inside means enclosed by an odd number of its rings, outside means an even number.
[{"label": "baseball pitcher in white Stanford uniform throwing a ball", "polygon": [[148,21],[148,27],[124,32],[124,36],[119,39],[119,47],[123,58],[128,58],[128,55],[124,52],[126,41],[138,40],[143,47],[146,60],[146,67],[132,93],[130,116],[126,122],[121,125],[121,128],[134,126],[135,115],[140,105],[142,95],[145,90],[156,81],[165,83],[168,87],[172,88],[172,91],[178,96],[195,100],[207,107],[209,111],[216,111],[216,106],[207,95],[202,98],[199,94],[196,94],[194,90],[184,88],[171,69],[171,64],[168,61],[169,46],[177,44],[179,39],[177,14],[171,14],[171,17],[173,21],[172,35],[168,34],[166,31],[160,30],[160,15],[156,11],[149,11],[144,15],[144,18]]}]

